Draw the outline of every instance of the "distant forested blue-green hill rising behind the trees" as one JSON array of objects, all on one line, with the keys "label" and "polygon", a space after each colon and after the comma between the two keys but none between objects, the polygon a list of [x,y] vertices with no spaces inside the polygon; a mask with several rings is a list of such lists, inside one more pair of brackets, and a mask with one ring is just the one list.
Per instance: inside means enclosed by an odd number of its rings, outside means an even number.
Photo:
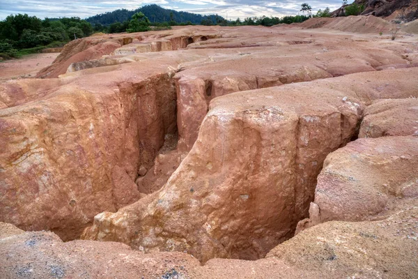
[{"label": "distant forested blue-green hill rising behind the trees", "polygon": [[102,24],[109,25],[114,22],[124,22],[125,20],[130,20],[134,13],[144,13],[150,22],[169,22],[171,20],[171,13],[173,20],[179,23],[192,22],[193,24],[200,24],[202,20],[210,17],[212,22],[217,22],[219,20],[224,20],[224,17],[219,15],[198,15],[195,13],[187,12],[178,12],[177,10],[169,10],[162,8],[156,4],[146,5],[136,10],[114,10],[113,12],[101,13],[99,15],[93,15],[93,17],[86,18],[86,21],[91,24]]}]

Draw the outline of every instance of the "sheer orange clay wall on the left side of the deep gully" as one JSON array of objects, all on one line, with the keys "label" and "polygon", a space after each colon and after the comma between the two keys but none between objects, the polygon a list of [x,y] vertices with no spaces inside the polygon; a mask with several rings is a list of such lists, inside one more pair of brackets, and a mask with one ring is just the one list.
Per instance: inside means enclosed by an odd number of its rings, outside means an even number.
[{"label": "sheer orange clay wall on the left side of the deep gully", "polygon": [[98,212],[139,199],[138,170],[176,131],[172,73],[164,63],[146,71],[80,78],[0,111],[0,220],[74,239]]}]

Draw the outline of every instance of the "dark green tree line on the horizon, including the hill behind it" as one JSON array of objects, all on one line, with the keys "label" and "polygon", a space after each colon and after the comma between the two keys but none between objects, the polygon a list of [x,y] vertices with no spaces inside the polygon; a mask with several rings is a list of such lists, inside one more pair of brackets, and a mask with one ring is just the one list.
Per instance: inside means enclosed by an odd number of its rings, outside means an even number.
[{"label": "dark green tree line on the horizon, including the hill behind it", "polygon": [[[364,6],[353,3],[345,7],[346,15],[358,15],[364,10]],[[138,10],[144,10],[145,13]],[[144,6],[134,11],[116,10],[111,13],[95,15],[86,20],[79,17],[45,18],[29,15],[9,15],[6,20],[0,22],[0,59],[18,57],[22,54],[34,53],[45,47],[59,47],[76,38],[90,36],[92,33],[121,33],[170,29],[175,25],[192,25],[200,20],[201,25],[241,26],[262,25],[271,27],[275,24],[291,24],[304,22],[311,17],[330,17],[330,8],[318,10],[312,15],[311,6],[302,3],[302,15],[288,15],[284,17],[245,17],[244,20],[226,20],[219,15],[195,15],[192,13],[167,10],[155,4]],[[126,18],[126,13],[130,17]],[[157,21],[158,20],[158,21]],[[162,21],[164,20],[164,21]],[[186,21],[187,20],[187,21]],[[192,22],[193,20],[193,22]],[[93,24],[92,24],[93,22]],[[102,24],[100,22],[111,22]]]}]

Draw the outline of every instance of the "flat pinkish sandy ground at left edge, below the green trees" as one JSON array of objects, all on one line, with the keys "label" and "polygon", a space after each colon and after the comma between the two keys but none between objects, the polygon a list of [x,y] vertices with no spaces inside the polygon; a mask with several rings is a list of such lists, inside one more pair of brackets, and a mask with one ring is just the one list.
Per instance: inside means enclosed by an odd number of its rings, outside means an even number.
[{"label": "flat pinkish sandy ground at left edge, below the green trees", "polygon": [[40,69],[50,65],[59,53],[41,53],[23,56],[0,63],[0,80],[34,77]]}]

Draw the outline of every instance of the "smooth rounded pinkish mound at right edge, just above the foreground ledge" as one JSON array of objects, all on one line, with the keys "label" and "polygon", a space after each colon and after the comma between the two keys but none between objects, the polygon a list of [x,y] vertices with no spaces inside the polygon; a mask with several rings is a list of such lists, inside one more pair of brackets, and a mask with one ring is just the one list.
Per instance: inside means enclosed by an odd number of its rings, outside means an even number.
[{"label": "smooth rounded pinkish mound at right edge, just above the foreground ledge", "polygon": [[330,220],[376,220],[398,203],[416,204],[417,144],[413,136],[359,139],[331,153],[318,176],[310,220],[300,229]]}]

